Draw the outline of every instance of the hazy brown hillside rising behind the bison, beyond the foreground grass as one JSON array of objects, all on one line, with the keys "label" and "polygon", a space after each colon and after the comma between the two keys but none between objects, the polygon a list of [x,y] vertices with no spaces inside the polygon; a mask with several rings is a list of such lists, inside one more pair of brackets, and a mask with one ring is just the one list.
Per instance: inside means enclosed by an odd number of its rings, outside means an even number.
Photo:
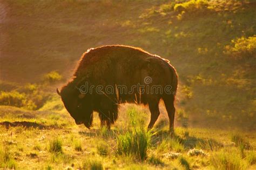
[{"label": "hazy brown hillside rising behind the bison, beyond the foreground grass", "polygon": [[123,44],[176,67],[180,125],[255,130],[255,1],[183,2],[1,0],[0,104],[57,102],[83,52]]}]

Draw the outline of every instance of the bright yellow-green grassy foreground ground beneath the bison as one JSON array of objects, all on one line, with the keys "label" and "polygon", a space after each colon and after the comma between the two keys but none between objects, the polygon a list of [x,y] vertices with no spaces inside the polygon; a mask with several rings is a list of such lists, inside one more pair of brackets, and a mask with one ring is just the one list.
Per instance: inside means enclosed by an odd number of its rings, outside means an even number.
[{"label": "bright yellow-green grassy foreground ground beneath the bison", "polygon": [[[255,133],[143,129],[149,112],[122,106],[111,131],[77,126],[62,110],[1,106],[0,167],[16,169],[255,169]],[[7,129],[7,130],[6,130]]]}]

